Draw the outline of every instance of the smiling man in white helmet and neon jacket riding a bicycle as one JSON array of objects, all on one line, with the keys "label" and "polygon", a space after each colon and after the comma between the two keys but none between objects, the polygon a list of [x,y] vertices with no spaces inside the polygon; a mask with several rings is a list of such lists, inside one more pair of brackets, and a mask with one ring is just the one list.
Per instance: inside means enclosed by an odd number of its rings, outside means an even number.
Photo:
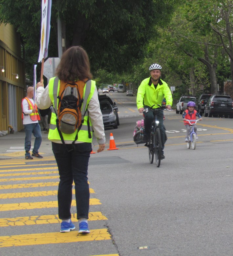
[{"label": "smiling man in white helmet and neon jacket riding a bicycle", "polygon": [[[142,113],[145,108],[150,108],[155,105],[154,108],[159,108],[158,104],[161,105],[163,98],[166,99],[166,108],[171,109],[172,106],[172,93],[167,83],[160,79],[162,67],[153,63],[149,67],[150,77],[144,79],[138,87],[137,94],[137,107],[138,111]],[[151,123],[153,121],[154,114],[152,111],[147,113],[144,112],[144,138],[143,142],[147,142],[150,136]],[[165,127],[163,125],[163,110],[157,113],[159,120],[159,129],[161,132],[161,159],[164,159],[163,149],[165,140]]]}]

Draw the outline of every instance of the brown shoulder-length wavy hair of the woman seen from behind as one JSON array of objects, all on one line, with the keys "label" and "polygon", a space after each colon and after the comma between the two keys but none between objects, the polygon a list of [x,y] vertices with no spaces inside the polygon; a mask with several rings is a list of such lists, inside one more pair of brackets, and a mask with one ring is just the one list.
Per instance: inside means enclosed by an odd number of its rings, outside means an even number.
[{"label": "brown shoulder-length wavy hair of the woman seen from behind", "polygon": [[65,82],[91,79],[90,62],[86,51],[81,46],[72,46],[66,50],[57,66],[56,75]]}]

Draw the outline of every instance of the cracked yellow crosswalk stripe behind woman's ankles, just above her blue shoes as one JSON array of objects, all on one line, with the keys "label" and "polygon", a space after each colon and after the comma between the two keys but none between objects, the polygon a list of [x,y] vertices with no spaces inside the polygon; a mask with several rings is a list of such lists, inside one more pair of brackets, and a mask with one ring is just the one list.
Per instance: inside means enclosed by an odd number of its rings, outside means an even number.
[{"label": "cracked yellow crosswalk stripe behind woman's ankles, just above her blue shoes", "polygon": [[[71,214],[72,222],[78,222],[76,213]],[[88,221],[107,220],[101,212],[89,212]],[[0,219],[0,227],[61,223],[57,215],[25,216]]]}]

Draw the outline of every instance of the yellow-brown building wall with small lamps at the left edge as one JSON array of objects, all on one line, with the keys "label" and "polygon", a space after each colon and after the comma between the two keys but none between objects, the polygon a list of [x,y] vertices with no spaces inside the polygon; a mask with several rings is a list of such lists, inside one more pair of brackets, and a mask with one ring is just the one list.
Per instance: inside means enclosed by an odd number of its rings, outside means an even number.
[{"label": "yellow-brown building wall with small lamps at the left edge", "polygon": [[[21,43],[19,36],[13,26],[0,24],[0,67],[3,67],[5,72],[0,68],[0,131],[6,131],[9,123],[9,102],[8,102],[8,87],[13,85],[16,89],[17,111],[13,115],[17,119],[17,127],[14,129],[21,131],[23,127],[21,119],[21,100],[26,96],[25,83],[25,68],[24,61],[21,58]],[[16,79],[18,74],[19,78]]]}]

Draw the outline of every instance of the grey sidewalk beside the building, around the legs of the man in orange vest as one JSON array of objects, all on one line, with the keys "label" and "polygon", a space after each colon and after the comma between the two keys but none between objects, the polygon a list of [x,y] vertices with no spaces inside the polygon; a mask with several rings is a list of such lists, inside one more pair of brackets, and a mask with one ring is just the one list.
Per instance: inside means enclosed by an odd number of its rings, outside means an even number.
[{"label": "grey sidewalk beside the building, around the legs of the man in orange vest", "polygon": [[[39,148],[39,154],[43,157],[53,156],[51,141],[48,140],[48,133],[45,134],[44,131],[41,131],[42,142]],[[24,159],[25,150],[24,150],[24,139],[25,132],[17,132],[14,134],[7,134],[0,137],[0,160],[5,159]],[[35,137],[32,134],[32,147],[34,144]],[[32,153],[32,149],[30,150]]]}]

